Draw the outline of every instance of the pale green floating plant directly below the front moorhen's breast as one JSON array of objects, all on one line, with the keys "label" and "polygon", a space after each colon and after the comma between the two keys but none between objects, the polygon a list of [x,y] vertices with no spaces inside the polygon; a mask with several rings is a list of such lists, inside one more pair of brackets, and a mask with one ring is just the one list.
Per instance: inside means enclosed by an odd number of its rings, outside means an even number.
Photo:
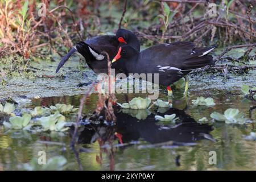
[{"label": "pale green floating plant directly below the front moorhen's breast", "polygon": [[119,104],[123,109],[147,109],[148,106],[150,105],[151,100],[150,98],[141,98],[141,97],[134,97],[131,101],[128,103],[124,104]]}]

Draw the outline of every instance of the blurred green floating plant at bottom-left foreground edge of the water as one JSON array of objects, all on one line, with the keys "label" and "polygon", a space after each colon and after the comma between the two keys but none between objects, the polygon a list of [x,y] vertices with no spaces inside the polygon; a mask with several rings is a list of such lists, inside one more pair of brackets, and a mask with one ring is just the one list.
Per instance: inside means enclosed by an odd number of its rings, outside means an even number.
[{"label": "blurred green floating plant at bottom-left foreground edge of the water", "polygon": [[67,159],[64,156],[54,156],[46,160],[46,164],[38,164],[38,158],[32,158],[30,163],[23,165],[27,171],[61,171],[65,168]]}]

